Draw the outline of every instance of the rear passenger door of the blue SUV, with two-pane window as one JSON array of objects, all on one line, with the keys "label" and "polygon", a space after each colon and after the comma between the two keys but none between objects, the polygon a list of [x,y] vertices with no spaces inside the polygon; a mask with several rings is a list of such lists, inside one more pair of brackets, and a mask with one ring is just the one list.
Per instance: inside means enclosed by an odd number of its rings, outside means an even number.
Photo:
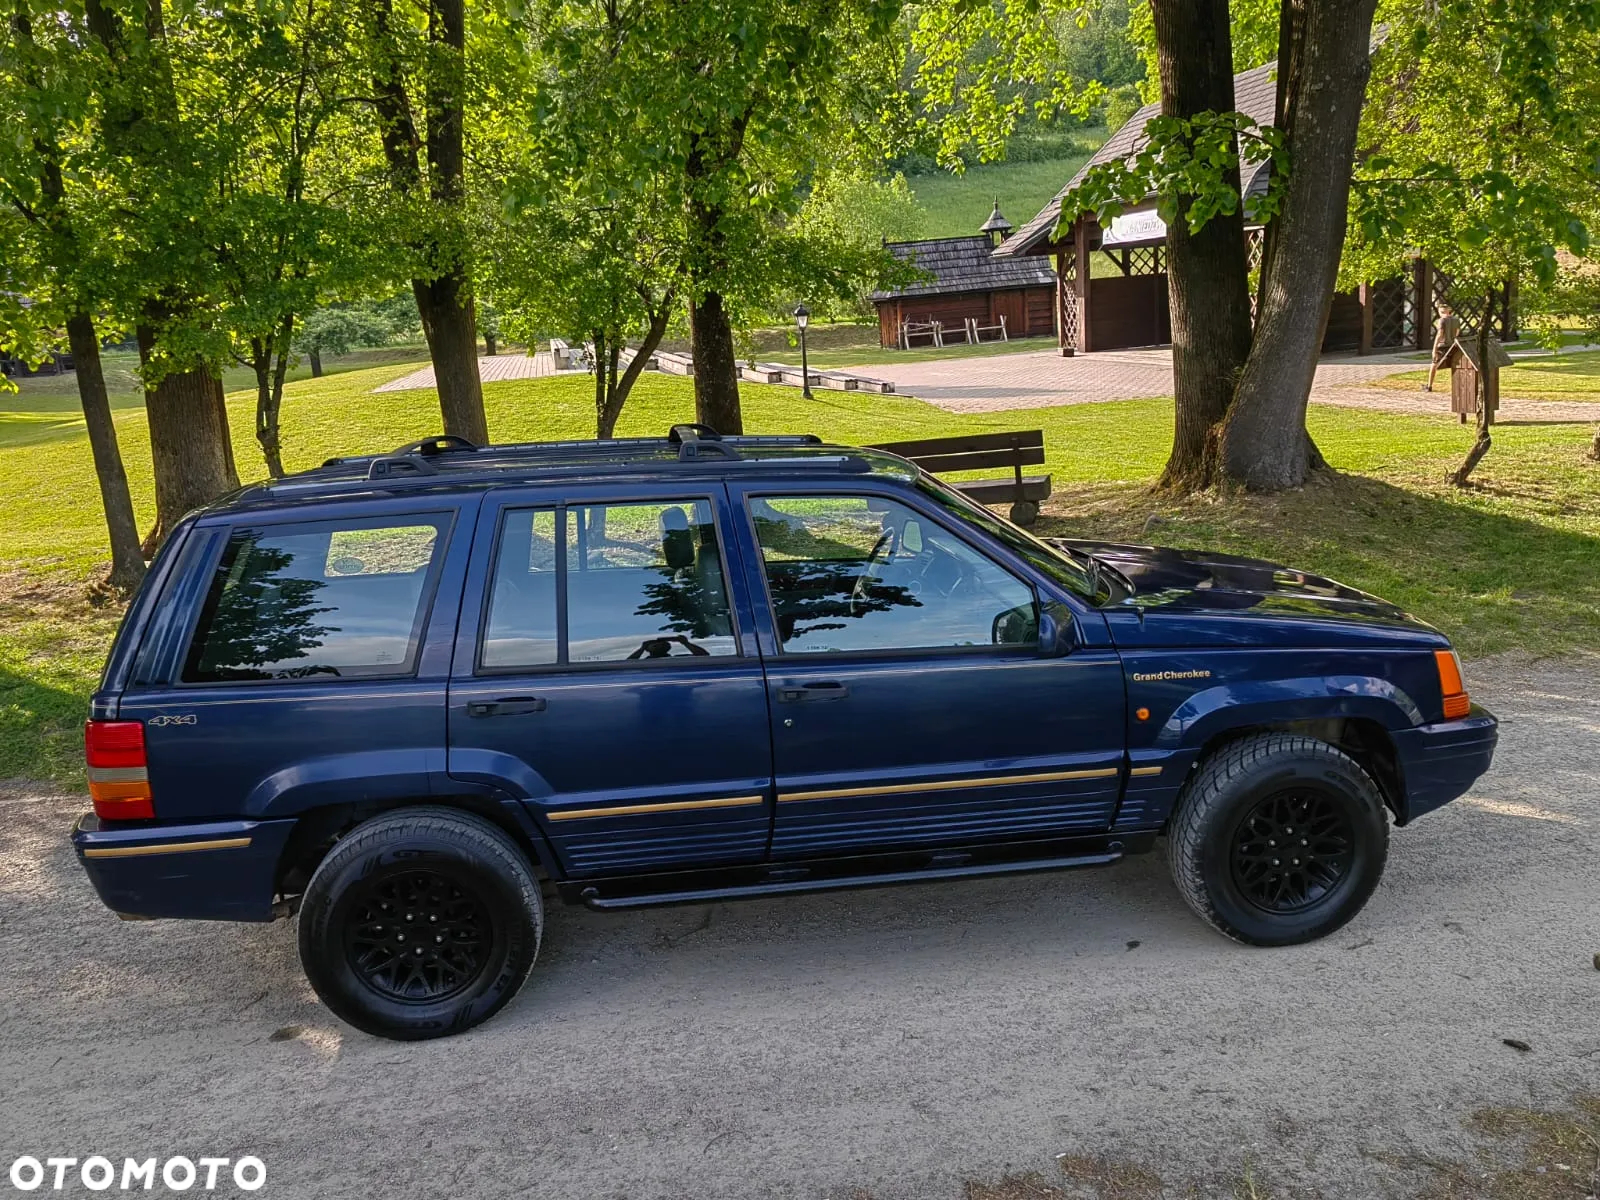
[{"label": "rear passenger door of the blue SUV, with two-pane window", "polygon": [[722,483],[485,502],[450,773],[523,800],[576,877],[766,854],[766,690],[726,526]]}]

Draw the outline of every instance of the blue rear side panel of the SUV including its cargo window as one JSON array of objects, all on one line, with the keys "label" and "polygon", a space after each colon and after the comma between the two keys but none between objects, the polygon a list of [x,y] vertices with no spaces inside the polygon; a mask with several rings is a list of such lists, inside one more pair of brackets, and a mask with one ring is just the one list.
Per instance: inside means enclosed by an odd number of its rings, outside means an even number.
[{"label": "blue rear side panel of the SUV including its cargo window", "polygon": [[445,691],[475,499],[205,518],[118,715],[165,821],[414,798],[445,778]]}]

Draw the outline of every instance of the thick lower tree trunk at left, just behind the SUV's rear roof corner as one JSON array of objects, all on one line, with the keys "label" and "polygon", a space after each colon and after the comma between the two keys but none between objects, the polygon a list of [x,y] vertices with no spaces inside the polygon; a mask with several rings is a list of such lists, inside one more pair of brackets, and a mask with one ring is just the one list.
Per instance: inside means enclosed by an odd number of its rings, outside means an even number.
[{"label": "thick lower tree trunk at left, just behind the SUV's rear roof corner", "polygon": [[[149,362],[155,334],[141,325],[139,358]],[[146,554],[173,531],[184,514],[238,486],[222,386],[206,365],[171,371],[144,389],[150,419],[150,461],[155,467],[155,528],[144,538]]]}]

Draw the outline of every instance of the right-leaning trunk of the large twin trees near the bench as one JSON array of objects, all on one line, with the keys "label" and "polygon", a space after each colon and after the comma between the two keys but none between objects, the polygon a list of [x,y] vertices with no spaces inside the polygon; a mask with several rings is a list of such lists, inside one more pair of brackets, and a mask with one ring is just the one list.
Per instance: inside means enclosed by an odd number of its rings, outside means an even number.
[{"label": "right-leaning trunk of the large twin trees near the bench", "polygon": [[1376,0],[1306,0],[1291,59],[1301,70],[1278,77],[1291,173],[1221,445],[1222,475],[1256,491],[1306,482],[1306,405],[1344,250],[1374,8]]}]

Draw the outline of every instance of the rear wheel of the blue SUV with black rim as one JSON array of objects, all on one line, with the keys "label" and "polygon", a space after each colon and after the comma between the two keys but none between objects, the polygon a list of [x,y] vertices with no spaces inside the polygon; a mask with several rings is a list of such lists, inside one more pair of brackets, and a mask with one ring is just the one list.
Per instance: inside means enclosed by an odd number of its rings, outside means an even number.
[{"label": "rear wheel of the blue SUV with black rim", "polygon": [[317,866],[299,952],[336,1016],[416,1042],[504,1008],[542,933],[539,885],[515,842],[470,813],[405,808],[357,826]]}]

